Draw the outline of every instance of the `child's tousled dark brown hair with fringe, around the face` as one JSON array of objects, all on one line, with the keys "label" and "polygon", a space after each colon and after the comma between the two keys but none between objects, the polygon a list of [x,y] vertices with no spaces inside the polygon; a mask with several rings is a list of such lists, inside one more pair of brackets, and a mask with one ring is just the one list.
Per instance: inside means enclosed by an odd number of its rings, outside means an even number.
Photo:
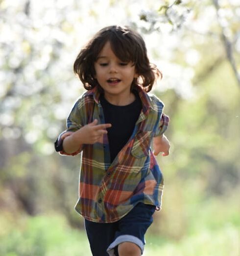
[{"label": "child's tousled dark brown hair with fringe, around the face", "polygon": [[74,73],[78,75],[86,90],[99,85],[95,78],[94,63],[108,41],[112,51],[121,61],[135,65],[139,77],[134,78],[131,90],[140,85],[149,92],[156,78],[162,78],[162,73],[156,65],[149,62],[144,39],[139,33],[127,26],[107,26],[99,30],[81,49],[73,65]]}]

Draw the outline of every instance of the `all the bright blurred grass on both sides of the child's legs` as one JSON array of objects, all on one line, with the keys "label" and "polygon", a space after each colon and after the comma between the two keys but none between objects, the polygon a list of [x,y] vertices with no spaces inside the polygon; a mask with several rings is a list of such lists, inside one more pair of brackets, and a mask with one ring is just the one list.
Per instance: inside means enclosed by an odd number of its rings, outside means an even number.
[{"label": "all the bright blurred grass on both sides of the child's legs", "polygon": [[[0,227],[1,256],[91,256],[84,230],[71,229],[63,216],[0,215]],[[201,227],[178,240],[148,233],[144,256],[240,255],[238,226]]]}]

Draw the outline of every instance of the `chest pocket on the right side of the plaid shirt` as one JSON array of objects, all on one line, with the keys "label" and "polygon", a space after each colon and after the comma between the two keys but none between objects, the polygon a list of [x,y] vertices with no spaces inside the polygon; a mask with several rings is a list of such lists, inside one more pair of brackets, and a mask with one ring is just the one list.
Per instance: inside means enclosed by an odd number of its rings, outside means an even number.
[{"label": "chest pocket on the right side of the plaid shirt", "polygon": [[131,154],[136,158],[142,158],[149,154],[151,131],[140,131],[136,134]]}]

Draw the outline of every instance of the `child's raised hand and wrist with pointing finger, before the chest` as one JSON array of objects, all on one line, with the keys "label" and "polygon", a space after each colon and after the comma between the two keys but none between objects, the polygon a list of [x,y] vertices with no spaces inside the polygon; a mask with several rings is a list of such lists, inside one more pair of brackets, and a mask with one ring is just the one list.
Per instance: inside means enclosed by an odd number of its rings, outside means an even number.
[{"label": "child's raised hand and wrist with pointing finger, before the chest", "polygon": [[102,141],[103,134],[107,134],[106,128],[110,128],[111,124],[97,125],[97,119],[92,123],[85,125],[72,134],[72,139],[77,144],[94,144]]}]

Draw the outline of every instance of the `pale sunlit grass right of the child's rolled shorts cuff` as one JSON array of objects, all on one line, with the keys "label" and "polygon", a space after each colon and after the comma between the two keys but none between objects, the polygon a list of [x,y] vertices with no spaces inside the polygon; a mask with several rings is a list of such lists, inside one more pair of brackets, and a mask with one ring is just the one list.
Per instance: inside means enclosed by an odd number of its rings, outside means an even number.
[{"label": "pale sunlit grass right of the child's rolled shorts cuff", "polygon": [[226,225],[218,230],[202,229],[179,241],[161,242],[147,237],[144,256],[239,256],[240,230]]}]

